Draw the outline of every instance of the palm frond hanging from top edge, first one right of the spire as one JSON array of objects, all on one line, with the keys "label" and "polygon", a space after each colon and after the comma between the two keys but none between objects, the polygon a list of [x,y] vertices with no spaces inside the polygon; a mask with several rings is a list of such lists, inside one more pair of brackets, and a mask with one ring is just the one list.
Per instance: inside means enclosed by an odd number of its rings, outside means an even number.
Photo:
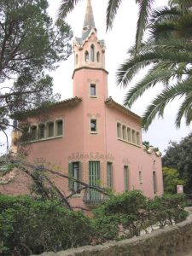
[{"label": "palm frond hanging from top edge, first one right of the spire", "polygon": [[121,2],[122,0],[108,0],[108,8],[106,12],[107,31],[113,26],[113,20],[115,15],[117,14],[117,10],[119,9],[119,5]]}]

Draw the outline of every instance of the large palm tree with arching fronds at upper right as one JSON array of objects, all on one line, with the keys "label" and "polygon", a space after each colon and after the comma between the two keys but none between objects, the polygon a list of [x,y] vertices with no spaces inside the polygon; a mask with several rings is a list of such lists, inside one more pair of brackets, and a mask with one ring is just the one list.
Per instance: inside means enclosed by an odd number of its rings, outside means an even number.
[{"label": "large palm tree with arching fronds at upper right", "polygon": [[183,11],[181,4],[176,2],[179,1],[170,1],[170,7],[154,10],[148,42],[141,45],[137,57],[134,55],[136,47],[133,47],[129,51],[131,58],[117,73],[117,83],[126,87],[139,70],[149,67],[144,78],[125,96],[125,106],[130,108],[146,90],[160,82],[165,86],[143,115],[145,130],[156,116],[163,116],[166,105],[177,97],[183,98],[177,112],[177,127],[183,117],[186,125],[192,121],[192,4],[188,1]]}]

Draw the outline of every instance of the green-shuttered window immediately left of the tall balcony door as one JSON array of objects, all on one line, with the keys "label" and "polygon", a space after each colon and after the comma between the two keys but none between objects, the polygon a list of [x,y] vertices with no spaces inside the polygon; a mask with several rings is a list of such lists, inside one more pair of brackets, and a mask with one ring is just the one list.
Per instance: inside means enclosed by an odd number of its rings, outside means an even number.
[{"label": "green-shuttered window immediately left of the tall balcony door", "polygon": [[[80,170],[80,162],[69,163],[68,166],[68,176],[73,177],[77,180],[81,180],[81,170]],[[78,182],[73,181],[72,179],[68,180],[68,189],[76,191],[79,193],[80,184]]]}]

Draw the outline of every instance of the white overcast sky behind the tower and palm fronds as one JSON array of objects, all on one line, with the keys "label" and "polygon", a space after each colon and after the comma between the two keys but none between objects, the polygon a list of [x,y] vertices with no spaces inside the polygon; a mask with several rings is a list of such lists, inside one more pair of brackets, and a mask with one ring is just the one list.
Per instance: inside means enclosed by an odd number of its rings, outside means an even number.
[{"label": "white overcast sky behind the tower and palm fronds", "polygon": [[[49,15],[54,19],[56,12],[59,8],[59,0],[49,1]],[[84,14],[86,8],[86,0],[79,1],[73,12],[67,16],[67,22],[72,26],[74,36],[79,37],[81,35]],[[167,3],[167,0],[155,1],[160,6]],[[122,1],[119,8],[118,15],[113,23],[113,29],[106,33],[105,16],[108,0],[91,0],[92,8],[94,12],[97,36],[99,39],[104,39],[107,51],[106,51],[106,69],[109,72],[108,75],[108,95],[113,97],[113,100],[122,103],[124,95],[127,89],[123,90],[115,84],[115,72],[119,64],[126,58],[126,51],[135,42],[135,33],[137,26],[137,5],[135,0]],[[53,73],[50,73],[54,77],[54,90],[61,93],[62,99],[66,99],[73,96],[73,55],[71,55],[67,61],[60,63],[60,67]],[[137,78],[131,83],[142,77],[142,73],[137,75]],[[148,102],[150,102],[157,91],[160,91],[160,86],[155,87],[153,90],[148,90],[145,95],[137,101],[137,103],[131,108],[131,111],[142,115]],[[148,132],[143,132],[143,141],[147,140],[155,147],[159,147],[160,151],[164,153],[170,140],[179,141],[181,137],[185,137],[192,131],[192,125],[186,127],[184,124],[179,130],[174,125],[175,114],[177,113],[178,100],[172,102],[171,105],[166,108],[164,119],[155,119],[153,124],[150,125]],[[183,122],[184,123],[184,122]],[[0,135],[0,144],[4,142],[2,134]],[[0,149],[0,152],[2,150]]]}]

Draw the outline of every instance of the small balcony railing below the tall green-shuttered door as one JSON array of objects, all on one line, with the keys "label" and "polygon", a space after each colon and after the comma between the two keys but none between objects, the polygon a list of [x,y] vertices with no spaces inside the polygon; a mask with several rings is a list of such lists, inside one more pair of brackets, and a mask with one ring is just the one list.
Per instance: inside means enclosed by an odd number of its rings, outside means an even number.
[{"label": "small balcony railing below the tall green-shuttered door", "polygon": [[83,201],[85,205],[88,206],[97,206],[108,199],[107,195],[103,195],[102,193],[94,190],[94,189],[85,189]]}]

